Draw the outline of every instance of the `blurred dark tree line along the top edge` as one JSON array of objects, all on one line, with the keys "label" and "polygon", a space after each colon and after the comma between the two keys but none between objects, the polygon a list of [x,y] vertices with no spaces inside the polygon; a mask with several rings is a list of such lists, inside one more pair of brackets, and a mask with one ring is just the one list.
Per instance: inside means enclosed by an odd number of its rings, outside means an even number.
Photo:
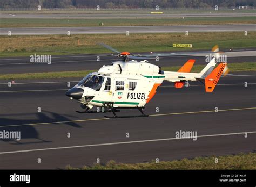
[{"label": "blurred dark tree line along the top edge", "polygon": [[255,6],[256,0],[0,0],[0,8],[198,8]]}]

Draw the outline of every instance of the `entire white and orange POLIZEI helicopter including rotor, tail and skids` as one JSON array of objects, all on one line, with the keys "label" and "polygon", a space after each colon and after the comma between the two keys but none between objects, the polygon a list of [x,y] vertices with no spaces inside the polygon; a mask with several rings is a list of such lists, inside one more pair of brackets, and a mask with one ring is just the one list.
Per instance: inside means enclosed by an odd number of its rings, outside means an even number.
[{"label": "entire white and orange POLIZEI helicopter including rotor, tail and skids", "polygon": [[[193,52],[137,54],[119,52],[116,49],[100,44],[116,52],[120,61],[103,66],[98,72],[86,75],[78,84],[66,92],[66,96],[75,99],[85,111],[78,113],[92,113],[93,107],[100,107],[100,112],[112,112],[113,116],[106,118],[147,117],[143,109],[154,97],[163,81],[174,82],[175,88],[182,88],[186,81],[200,81],[205,85],[206,92],[212,92],[222,74],[227,73],[227,64],[217,64],[219,56],[218,46],[214,46],[213,59],[200,73],[190,73],[195,60],[188,60],[177,72],[163,71],[161,67],[148,63],[148,58],[156,56],[191,55]],[[69,52],[68,52],[69,53]],[[196,52],[198,53],[198,52]],[[205,52],[204,52],[205,53]],[[85,54],[85,53],[83,53]],[[113,54],[110,54],[113,56]],[[143,61],[137,61],[143,59]],[[117,116],[120,109],[138,109],[138,116]]]}]

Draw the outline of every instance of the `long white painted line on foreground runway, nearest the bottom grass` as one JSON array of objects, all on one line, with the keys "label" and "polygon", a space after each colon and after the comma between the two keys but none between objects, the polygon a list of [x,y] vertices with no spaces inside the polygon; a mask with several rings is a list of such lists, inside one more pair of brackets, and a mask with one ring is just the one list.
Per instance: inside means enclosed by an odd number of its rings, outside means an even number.
[{"label": "long white painted line on foreground runway, nearest the bottom grass", "polygon": [[[228,136],[228,135],[240,135],[240,134],[253,134],[256,131],[251,132],[238,132],[238,133],[226,133],[226,134],[210,134],[210,135],[200,135],[197,138],[207,138],[214,136]],[[10,152],[0,152],[0,154],[11,154],[11,153],[24,153],[24,152],[38,152],[42,150],[57,150],[57,149],[71,149],[71,148],[81,148],[81,147],[97,147],[97,146],[112,146],[112,145],[124,145],[130,143],[144,143],[144,142],[156,142],[156,141],[170,141],[170,140],[180,140],[183,138],[164,138],[164,139],[151,139],[151,140],[138,140],[138,141],[123,141],[123,142],[112,142],[112,143],[99,143],[91,145],[80,145],[80,146],[68,146],[68,147],[52,147],[52,148],[43,148],[43,149],[27,149],[27,150],[14,150]]]}]

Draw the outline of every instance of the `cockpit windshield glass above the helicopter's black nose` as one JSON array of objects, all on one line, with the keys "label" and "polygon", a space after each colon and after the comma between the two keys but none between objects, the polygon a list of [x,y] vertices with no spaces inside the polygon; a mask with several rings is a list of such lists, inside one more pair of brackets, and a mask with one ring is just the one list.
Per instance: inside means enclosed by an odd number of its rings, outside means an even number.
[{"label": "cockpit windshield glass above the helicopter's black nose", "polygon": [[93,90],[99,91],[102,88],[104,77],[98,75],[89,74],[82,79],[77,85],[80,87],[89,87]]}]

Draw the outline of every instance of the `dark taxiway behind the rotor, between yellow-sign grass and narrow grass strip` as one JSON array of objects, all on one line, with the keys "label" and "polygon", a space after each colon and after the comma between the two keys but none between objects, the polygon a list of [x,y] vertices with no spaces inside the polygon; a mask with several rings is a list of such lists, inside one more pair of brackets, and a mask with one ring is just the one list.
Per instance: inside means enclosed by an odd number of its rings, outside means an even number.
[{"label": "dark taxiway behind the rotor, between yellow-sign grass and narrow grass strip", "polygon": [[[235,53],[235,52],[230,52]],[[227,57],[227,63],[234,62],[255,62],[256,52],[254,49],[246,49],[246,51],[237,52],[236,57]],[[254,56],[241,56],[241,53],[247,53]],[[48,54],[48,53],[47,53]],[[228,54],[228,53],[225,53]],[[231,55],[232,56],[232,55]],[[159,61],[149,59],[150,63],[161,67],[167,66],[183,66],[189,59],[195,59],[195,65],[206,64],[205,56],[169,56],[159,57]],[[112,56],[100,56],[100,61],[97,61],[97,56],[88,55],[63,55],[52,56],[52,63],[32,63],[29,57],[5,57],[0,59],[0,74],[14,73],[37,73],[37,72],[53,72],[53,71],[78,71],[78,70],[98,70],[103,65],[109,65],[113,61],[118,61]]]}]

